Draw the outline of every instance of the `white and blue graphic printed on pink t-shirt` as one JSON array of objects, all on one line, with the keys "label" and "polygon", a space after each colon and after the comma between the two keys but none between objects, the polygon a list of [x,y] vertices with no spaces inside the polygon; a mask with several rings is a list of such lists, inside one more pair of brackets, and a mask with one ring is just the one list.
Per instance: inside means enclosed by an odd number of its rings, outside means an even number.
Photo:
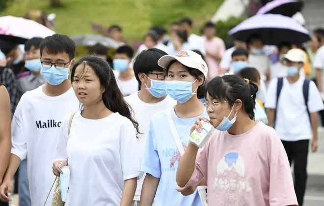
[{"label": "white and blue graphic printed on pink t-shirt", "polygon": [[[244,179],[245,166],[242,156],[237,152],[227,153],[217,164],[214,190],[224,190],[226,199],[220,200],[220,205],[245,206],[247,199],[244,193],[251,192],[251,184]],[[243,196],[243,197],[242,197]],[[217,196],[218,197],[218,196]],[[236,201],[240,199],[240,203]]]}]

